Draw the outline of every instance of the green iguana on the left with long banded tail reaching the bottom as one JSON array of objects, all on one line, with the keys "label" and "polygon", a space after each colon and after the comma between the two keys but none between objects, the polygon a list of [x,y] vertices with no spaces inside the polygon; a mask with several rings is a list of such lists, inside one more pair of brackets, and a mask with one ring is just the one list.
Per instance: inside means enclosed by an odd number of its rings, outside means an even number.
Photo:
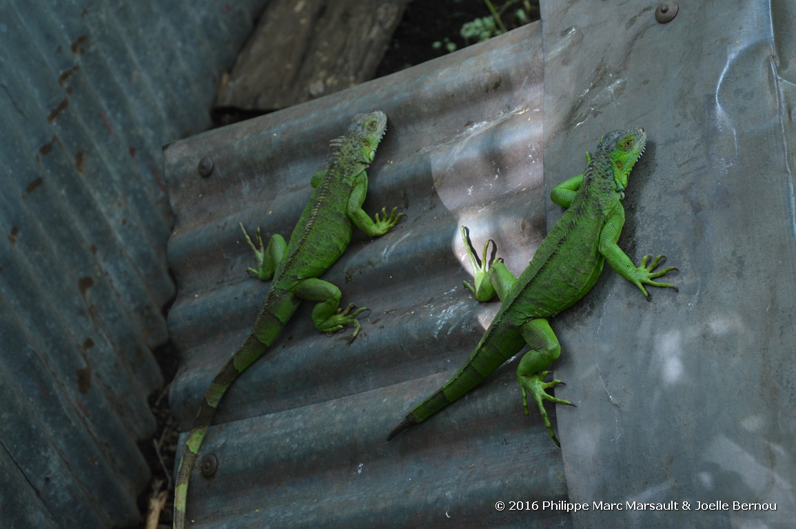
[{"label": "green iguana on the left with long banded tail reaching the bottom", "polygon": [[348,247],[353,226],[377,237],[390,231],[404,215],[396,215],[397,208],[393,208],[388,216],[382,208],[381,218],[377,213],[374,222],[362,210],[368,192],[365,169],[373,161],[386,126],[384,112],[360,114],[354,117],[345,135],[332,142],[334,153],[326,169],[312,177],[315,189],[293,229],[290,243],[286,244],[281,235],[271,235],[268,246],[263,247],[258,228],[258,249],[240,224],[257,261],[257,268],[247,271],[263,281],[271,278],[273,281],[252,332],[210,383],[199,406],[178,467],[174,527],[185,527],[185,502],[193,463],[224,392],[274,343],[301,301],[316,302],[312,321],[322,333],[335,333],[345,325],[354,326],[350,340],[359,333],[361,325],[357,316],[367,309],[356,309],[353,304],[340,309],[340,290],[318,276],[329,270]]}]

